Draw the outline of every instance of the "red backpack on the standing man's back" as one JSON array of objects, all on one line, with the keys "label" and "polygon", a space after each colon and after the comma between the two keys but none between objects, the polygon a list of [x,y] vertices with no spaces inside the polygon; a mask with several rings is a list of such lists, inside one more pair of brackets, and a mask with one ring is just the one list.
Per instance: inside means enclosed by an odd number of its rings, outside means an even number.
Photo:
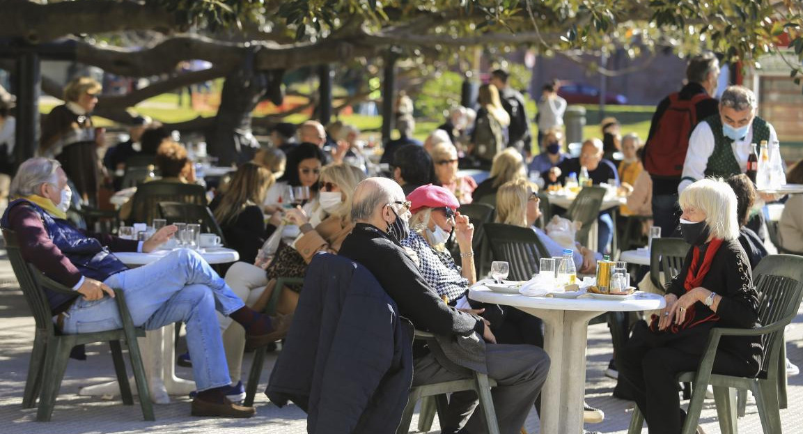
[{"label": "red backpack on the standing man's back", "polygon": [[658,120],[653,137],[644,146],[644,168],[655,178],[680,178],[691,131],[697,125],[696,105],[711,98],[699,93],[681,100],[679,93],[669,96],[669,107]]}]

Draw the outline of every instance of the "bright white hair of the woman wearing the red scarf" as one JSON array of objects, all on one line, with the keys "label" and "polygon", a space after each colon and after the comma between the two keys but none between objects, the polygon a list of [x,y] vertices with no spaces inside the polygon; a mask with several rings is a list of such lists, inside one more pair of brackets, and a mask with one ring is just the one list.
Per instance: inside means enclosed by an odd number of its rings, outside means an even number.
[{"label": "bright white hair of the woman wearing the red scarf", "polygon": [[739,219],[736,215],[736,193],[722,178],[706,178],[687,186],[680,193],[680,207],[703,211],[708,230],[714,238],[739,238]]}]

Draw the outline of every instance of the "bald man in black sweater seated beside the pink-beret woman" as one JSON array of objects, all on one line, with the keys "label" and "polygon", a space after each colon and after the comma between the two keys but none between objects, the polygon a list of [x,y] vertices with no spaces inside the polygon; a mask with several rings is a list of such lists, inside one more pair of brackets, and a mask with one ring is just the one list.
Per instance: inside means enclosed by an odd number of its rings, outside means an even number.
[{"label": "bald man in black sweater seated beside the pink-beret woman", "polygon": [[[354,191],[352,219],[357,225],[340,255],[368,268],[399,312],[418,330],[438,336],[442,351],[422,342],[413,347],[413,385],[471,378],[471,371],[495,379],[492,391],[499,432],[517,434],[549,370],[544,350],[529,345],[497,345],[490,327],[472,313],[442,301],[418,270],[400,241],[410,235],[410,202],[402,187],[388,178],[368,178]],[[481,415],[471,416],[476,399],[454,394],[442,415],[442,432],[486,432]]]}]

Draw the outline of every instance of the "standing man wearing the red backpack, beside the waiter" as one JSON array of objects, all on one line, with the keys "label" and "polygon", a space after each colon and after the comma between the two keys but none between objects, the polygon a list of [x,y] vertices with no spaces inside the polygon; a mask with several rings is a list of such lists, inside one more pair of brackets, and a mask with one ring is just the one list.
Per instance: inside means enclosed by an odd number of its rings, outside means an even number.
[{"label": "standing man wearing the red backpack, beside the waiter", "polygon": [[[683,86],[679,92],[680,100],[691,100],[694,96],[707,94],[713,96],[716,93],[717,80],[719,79],[719,61],[715,55],[707,53],[696,55],[691,58],[686,68],[686,79],[688,84]],[[647,136],[646,147],[650,146],[661,123],[661,118],[666,109],[669,108],[670,98],[667,96],[655,109],[655,114],[650,124],[650,134]],[[714,98],[704,98],[695,104],[696,120],[703,119],[719,113],[719,103]],[[681,125],[678,125],[680,128]],[[694,125],[692,125],[692,130]],[[691,131],[690,131],[691,133]],[[677,178],[663,178],[652,176],[653,182],[653,221],[655,226],[661,227],[661,233],[671,236],[678,226],[680,207],[678,206],[678,186],[680,184],[680,174]]]}]

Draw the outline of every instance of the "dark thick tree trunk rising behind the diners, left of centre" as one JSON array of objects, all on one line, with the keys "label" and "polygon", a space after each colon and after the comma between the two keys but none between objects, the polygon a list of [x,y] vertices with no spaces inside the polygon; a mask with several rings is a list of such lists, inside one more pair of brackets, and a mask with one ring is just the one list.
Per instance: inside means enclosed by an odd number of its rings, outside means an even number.
[{"label": "dark thick tree trunk rising behind the diners, left of centre", "polygon": [[250,161],[259,142],[251,133],[254,109],[267,96],[276,105],[282,104],[283,70],[256,72],[255,51],[246,55],[242,68],[226,75],[220,95],[220,107],[214,125],[206,133],[210,153],[221,166]]}]

